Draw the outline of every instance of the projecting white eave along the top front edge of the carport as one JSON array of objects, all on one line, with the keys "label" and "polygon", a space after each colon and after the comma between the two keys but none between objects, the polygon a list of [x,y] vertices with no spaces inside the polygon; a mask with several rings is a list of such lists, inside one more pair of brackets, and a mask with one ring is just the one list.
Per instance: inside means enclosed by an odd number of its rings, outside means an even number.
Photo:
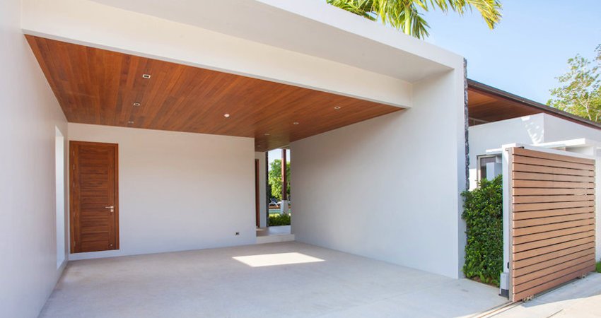
[{"label": "projecting white eave along the top front edge of the carport", "polygon": [[325,0],[95,0],[414,82],[462,57]]}]

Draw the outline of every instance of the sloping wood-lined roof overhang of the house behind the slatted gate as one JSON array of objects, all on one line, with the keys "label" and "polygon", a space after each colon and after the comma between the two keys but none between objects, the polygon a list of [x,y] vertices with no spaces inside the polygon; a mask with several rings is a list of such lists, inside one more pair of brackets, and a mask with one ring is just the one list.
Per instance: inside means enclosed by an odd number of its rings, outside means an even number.
[{"label": "sloping wood-lined roof overhang of the house behind the slatted gate", "polygon": [[599,123],[470,79],[467,94],[469,126],[544,113],[601,129]]}]

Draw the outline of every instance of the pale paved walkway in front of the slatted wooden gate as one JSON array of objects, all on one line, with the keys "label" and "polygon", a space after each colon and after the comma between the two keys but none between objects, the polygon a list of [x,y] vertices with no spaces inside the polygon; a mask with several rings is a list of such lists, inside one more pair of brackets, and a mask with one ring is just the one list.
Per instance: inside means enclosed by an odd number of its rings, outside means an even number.
[{"label": "pale paved walkway in front of the slatted wooden gate", "polygon": [[601,273],[590,273],[584,279],[572,281],[490,317],[601,317]]}]

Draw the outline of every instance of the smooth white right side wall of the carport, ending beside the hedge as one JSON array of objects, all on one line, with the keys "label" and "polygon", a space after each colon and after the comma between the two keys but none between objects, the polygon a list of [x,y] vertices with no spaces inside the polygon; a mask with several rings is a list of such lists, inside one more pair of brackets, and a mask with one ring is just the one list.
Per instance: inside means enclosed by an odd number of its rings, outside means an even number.
[{"label": "smooth white right side wall of the carport, ending beside the hedge", "polygon": [[296,240],[460,277],[465,144],[457,62],[457,71],[416,83],[409,110],[291,143]]}]

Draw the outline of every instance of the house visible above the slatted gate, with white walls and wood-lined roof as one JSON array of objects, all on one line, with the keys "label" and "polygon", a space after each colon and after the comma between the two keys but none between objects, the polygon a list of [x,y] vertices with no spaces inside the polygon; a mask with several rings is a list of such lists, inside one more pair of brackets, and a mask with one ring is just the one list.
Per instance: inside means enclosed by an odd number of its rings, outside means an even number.
[{"label": "house visible above the slatted gate, with white walls and wood-lined roof", "polygon": [[486,151],[509,143],[598,155],[601,124],[477,81],[468,80],[468,94],[470,189],[501,173],[499,155]]}]

